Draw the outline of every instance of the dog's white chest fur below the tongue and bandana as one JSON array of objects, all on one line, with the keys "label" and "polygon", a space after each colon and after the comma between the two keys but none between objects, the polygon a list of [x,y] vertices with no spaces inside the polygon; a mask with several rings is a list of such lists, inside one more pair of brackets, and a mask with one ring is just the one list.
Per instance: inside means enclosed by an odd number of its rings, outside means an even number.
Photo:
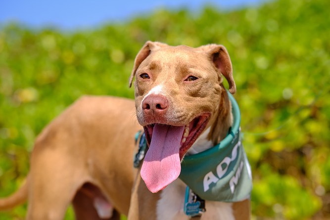
[{"label": "dog's white chest fur below the tongue and bandana", "polygon": [[[186,184],[175,180],[161,192],[157,202],[157,220],[189,220],[184,213]],[[206,201],[201,220],[235,220],[232,203]]]}]

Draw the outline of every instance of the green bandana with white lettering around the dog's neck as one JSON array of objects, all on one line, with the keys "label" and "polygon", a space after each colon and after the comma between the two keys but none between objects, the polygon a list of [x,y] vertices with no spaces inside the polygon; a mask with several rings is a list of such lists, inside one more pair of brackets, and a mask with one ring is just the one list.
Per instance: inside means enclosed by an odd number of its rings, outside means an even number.
[{"label": "green bandana with white lettering around the dog's neck", "polygon": [[200,198],[212,201],[237,202],[249,198],[252,190],[251,168],[240,140],[240,112],[232,102],[234,123],[229,134],[216,146],[181,163],[181,178]]}]

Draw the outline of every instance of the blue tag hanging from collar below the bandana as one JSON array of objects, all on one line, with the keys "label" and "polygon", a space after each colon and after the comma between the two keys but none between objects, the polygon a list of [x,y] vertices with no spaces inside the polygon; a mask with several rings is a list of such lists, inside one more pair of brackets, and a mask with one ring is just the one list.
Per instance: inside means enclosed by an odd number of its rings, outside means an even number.
[{"label": "blue tag hanging from collar below the bandana", "polygon": [[185,214],[192,218],[201,216],[205,211],[205,200],[201,199],[187,186],[184,207]]}]

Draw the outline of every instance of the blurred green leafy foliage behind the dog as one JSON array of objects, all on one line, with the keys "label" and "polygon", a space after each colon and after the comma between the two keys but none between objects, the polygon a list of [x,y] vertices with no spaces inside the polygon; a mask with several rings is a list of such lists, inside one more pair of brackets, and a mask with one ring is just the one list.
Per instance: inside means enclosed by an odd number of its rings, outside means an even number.
[{"label": "blurred green leafy foliage behind the dog", "polygon": [[[145,41],[216,43],[234,65],[253,218],[329,219],[329,8],[329,0],[277,0],[229,12],[159,10],[71,33],[2,25],[0,196],[27,175],[36,135],[78,97],[133,98],[128,77]],[[0,219],[25,212],[20,206]]]}]

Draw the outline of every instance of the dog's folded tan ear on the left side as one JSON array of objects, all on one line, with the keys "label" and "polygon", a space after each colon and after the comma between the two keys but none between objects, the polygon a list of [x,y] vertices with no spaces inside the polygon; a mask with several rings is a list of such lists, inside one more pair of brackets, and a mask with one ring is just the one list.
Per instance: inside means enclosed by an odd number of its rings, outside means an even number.
[{"label": "dog's folded tan ear on the left side", "polygon": [[167,46],[167,44],[163,44],[160,42],[151,42],[147,41],[139,51],[138,55],[135,57],[134,67],[130,76],[129,87],[132,87],[133,79],[135,76],[135,72],[137,71],[138,67],[142,63],[142,61],[150,54],[151,51],[159,49],[160,47]]}]

